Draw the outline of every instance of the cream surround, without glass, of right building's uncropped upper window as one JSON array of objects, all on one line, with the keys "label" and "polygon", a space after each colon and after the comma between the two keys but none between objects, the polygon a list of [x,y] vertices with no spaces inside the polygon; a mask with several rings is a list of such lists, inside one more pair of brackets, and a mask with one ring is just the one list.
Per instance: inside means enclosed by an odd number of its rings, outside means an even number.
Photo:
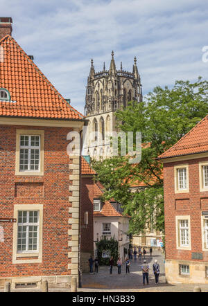
[{"label": "cream surround, without glass, of right building's uncropped upper window", "polygon": [[[186,181],[185,177],[182,177],[183,187],[180,188],[180,171],[186,169]],[[175,193],[189,192],[189,165],[175,165],[174,166],[174,181],[175,181]]]}]

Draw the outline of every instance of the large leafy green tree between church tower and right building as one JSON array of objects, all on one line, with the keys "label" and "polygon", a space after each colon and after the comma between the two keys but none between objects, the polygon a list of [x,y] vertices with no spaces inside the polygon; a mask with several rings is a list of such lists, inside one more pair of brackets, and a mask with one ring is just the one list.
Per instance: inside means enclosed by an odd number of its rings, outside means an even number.
[{"label": "large leafy green tree between church tower and right building", "polygon": [[[141,132],[141,162],[129,163],[130,156],[113,156],[94,161],[97,179],[103,183],[103,199],[114,198],[130,215],[130,232],[141,233],[154,219],[155,228],[164,230],[162,163],[157,156],[168,150],[208,114],[208,82],[176,81],[172,89],[155,87],[144,102],[130,102],[116,112],[118,128]],[[132,185],[139,192],[132,193]]]}]

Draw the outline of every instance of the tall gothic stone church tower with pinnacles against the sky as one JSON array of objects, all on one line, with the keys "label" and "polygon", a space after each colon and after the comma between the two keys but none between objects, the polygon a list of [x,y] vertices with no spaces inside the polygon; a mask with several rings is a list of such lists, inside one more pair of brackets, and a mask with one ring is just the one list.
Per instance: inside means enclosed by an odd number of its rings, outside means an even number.
[{"label": "tall gothic stone church tower with pinnacles against the sky", "polygon": [[114,51],[110,69],[95,72],[93,60],[89,77],[87,78],[85,97],[85,116],[87,116],[88,127],[85,138],[84,154],[92,157],[110,156],[110,144],[105,134],[116,131],[115,112],[125,108],[128,101],[142,101],[141,80],[137,69],[135,57],[132,72],[124,71],[122,68],[116,70],[114,62]]}]

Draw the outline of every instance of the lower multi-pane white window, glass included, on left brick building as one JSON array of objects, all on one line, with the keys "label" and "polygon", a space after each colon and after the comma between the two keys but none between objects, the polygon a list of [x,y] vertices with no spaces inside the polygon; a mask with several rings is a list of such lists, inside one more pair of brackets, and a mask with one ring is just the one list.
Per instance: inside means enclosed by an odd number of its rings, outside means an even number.
[{"label": "lower multi-pane white window, glass included, on left brick building", "polygon": [[38,251],[38,210],[19,210],[17,224],[17,253]]}]

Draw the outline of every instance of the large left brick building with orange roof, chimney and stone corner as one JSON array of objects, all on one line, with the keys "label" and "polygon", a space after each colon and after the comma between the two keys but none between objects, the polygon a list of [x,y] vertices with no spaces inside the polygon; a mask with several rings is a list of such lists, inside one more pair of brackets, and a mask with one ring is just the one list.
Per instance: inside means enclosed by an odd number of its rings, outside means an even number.
[{"label": "large left brick building with orange roof, chimney and stone corner", "polygon": [[11,32],[12,19],[0,18],[0,285],[69,286],[78,276],[80,157],[67,154],[67,134],[84,118]]}]

